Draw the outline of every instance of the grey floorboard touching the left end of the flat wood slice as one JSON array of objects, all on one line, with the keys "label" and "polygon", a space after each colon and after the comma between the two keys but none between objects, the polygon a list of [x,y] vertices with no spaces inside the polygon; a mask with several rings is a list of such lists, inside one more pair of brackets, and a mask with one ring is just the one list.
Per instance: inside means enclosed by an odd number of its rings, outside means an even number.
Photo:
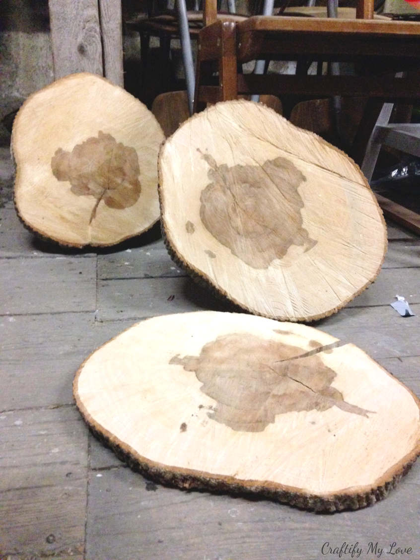
[{"label": "grey floorboard touching the left end of the flat wood slice", "polygon": [[95,323],[87,311],[0,317],[0,411],[71,404],[81,356],[132,323]]}]

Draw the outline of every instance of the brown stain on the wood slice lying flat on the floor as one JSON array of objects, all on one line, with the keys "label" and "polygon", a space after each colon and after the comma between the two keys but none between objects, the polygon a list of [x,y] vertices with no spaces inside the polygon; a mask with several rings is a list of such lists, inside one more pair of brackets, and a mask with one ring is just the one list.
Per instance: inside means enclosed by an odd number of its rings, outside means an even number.
[{"label": "brown stain on the wood slice lying flat on the floor", "polygon": [[170,364],[193,371],[217,406],[207,416],[236,431],[261,432],[277,414],[336,406],[367,417],[332,387],[335,372],[318,354],[298,358],[300,348],[252,334],[232,333],[205,344],[199,356],[178,355]]}]

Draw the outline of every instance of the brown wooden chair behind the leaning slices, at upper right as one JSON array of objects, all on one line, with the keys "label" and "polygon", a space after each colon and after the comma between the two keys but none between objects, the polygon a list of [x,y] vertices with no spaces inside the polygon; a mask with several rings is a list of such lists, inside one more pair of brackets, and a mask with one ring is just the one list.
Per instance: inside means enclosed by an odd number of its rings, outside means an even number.
[{"label": "brown wooden chair behind the leaning slices, at upper right", "polygon": [[[356,20],[253,16],[235,23],[217,20],[215,1],[205,0],[194,110],[207,102],[236,99],[239,94],[293,95],[300,99],[369,97],[351,153],[360,164],[384,101],[408,101],[420,96],[418,74],[395,77],[396,72],[420,67],[420,24],[374,20],[373,8],[373,0],[359,0]],[[265,75],[237,71],[250,60],[302,59],[352,62],[358,74],[308,76],[299,71],[296,75]]]}]

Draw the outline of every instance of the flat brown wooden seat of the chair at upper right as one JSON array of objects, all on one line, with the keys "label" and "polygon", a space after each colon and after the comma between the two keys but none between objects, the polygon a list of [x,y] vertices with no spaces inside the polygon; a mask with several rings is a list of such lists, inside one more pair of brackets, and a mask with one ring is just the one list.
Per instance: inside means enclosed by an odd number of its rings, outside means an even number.
[{"label": "flat brown wooden seat of the chair at upper right", "polygon": [[314,55],[360,62],[376,57],[384,66],[388,57],[389,71],[393,71],[390,64],[398,59],[404,62],[401,70],[420,59],[420,22],[253,16],[236,25],[236,39],[241,63]]}]

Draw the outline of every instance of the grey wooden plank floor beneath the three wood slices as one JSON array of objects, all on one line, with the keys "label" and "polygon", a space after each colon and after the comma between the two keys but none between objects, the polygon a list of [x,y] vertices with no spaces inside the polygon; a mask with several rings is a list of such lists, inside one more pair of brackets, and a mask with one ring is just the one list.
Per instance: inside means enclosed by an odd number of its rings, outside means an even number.
[{"label": "grey wooden plank floor beneath the three wood slices", "polygon": [[[420,558],[420,462],[386,500],[334,515],[165,488],[120,463],[74,407],[80,363],[139,319],[227,307],[171,262],[156,228],[87,253],[35,239],[11,202],[0,218],[1,560],[318,560],[345,543],[369,560]],[[420,238],[388,233],[375,284],[315,326],[420,395]],[[416,316],[390,307],[396,293]],[[391,543],[412,553],[391,556]]]}]

